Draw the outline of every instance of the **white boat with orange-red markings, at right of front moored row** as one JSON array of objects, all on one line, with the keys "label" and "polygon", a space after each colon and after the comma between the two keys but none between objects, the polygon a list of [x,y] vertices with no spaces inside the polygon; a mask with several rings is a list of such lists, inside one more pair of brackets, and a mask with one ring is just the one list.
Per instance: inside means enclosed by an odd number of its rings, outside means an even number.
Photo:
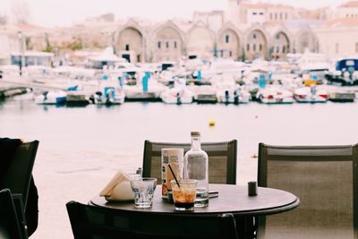
[{"label": "white boat with orange-red markings, at right of front moored row", "polygon": [[328,100],[328,93],[326,90],[316,88],[312,84],[311,87],[303,87],[294,90],[294,99],[299,103],[325,103]]}]

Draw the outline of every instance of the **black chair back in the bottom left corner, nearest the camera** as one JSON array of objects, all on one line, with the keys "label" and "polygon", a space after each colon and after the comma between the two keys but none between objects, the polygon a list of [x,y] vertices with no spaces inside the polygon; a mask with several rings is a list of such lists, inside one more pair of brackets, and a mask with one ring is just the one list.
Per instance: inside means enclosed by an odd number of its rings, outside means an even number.
[{"label": "black chair back in the bottom left corner, nearest the camera", "polygon": [[13,197],[9,189],[0,191],[0,238],[22,239]]}]

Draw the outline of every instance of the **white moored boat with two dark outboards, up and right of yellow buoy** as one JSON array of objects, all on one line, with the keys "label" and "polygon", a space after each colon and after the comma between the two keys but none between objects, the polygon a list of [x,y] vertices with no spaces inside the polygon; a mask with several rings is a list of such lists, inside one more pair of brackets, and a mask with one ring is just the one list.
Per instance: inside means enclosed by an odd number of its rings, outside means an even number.
[{"label": "white moored boat with two dark outboards, up and right of yellow buoy", "polygon": [[241,89],[237,88],[228,88],[217,90],[217,102],[225,104],[242,104],[249,103],[251,94]]}]

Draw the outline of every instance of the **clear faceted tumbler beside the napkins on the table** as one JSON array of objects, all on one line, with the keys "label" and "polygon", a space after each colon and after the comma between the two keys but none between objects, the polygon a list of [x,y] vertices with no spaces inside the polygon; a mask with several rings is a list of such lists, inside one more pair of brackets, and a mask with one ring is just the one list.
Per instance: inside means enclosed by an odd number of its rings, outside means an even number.
[{"label": "clear faceted tumbler beside the napkins on the table", "polygon": [[151,208],[156,186],[157,178],[154,177],[133,178],[131,180],[134,205],[136,208]]}]

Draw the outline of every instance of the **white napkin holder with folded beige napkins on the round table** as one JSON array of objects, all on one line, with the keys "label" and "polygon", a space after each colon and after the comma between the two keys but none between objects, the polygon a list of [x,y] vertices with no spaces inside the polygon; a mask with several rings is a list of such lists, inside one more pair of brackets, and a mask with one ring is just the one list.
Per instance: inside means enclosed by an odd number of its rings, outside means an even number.
[{"label": "white napkin holder with folded beige napkins on the round table", "polygon": [[115,174],[107,186],[99,193],[107,201],[132,201],[134,200],[131,177],[122,171]]}]

